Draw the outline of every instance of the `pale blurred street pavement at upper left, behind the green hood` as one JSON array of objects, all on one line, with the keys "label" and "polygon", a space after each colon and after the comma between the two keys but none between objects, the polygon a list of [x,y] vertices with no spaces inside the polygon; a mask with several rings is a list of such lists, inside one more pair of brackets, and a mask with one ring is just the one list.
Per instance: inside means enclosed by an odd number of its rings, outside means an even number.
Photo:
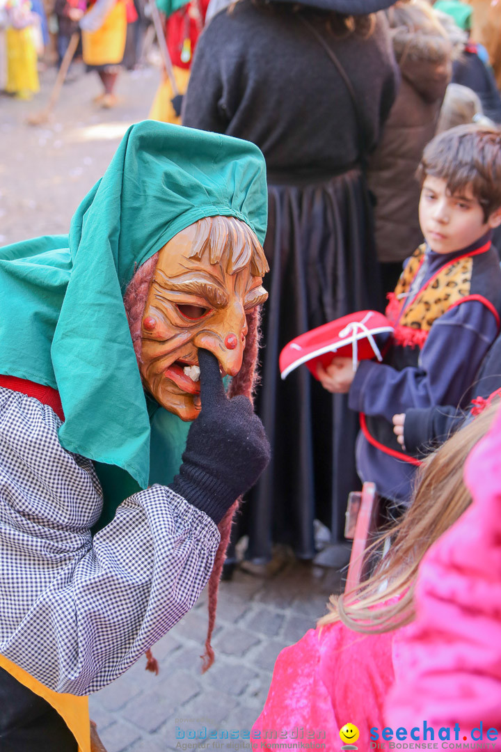
[{"label": "pale blurred street pavement at upper left, behind the green hood", "polygon": [[96,74],[65,84],[53,117],[41,126],[26,120],[47,104],[56,78],[52,68],[31,102],[0,96],[0,245],[35,235],[68,232],[80,201],[102,176],[131,123],[148,117],[160,74],[155,68],[123,73],[121,103],[104,111],[92,103]]}]

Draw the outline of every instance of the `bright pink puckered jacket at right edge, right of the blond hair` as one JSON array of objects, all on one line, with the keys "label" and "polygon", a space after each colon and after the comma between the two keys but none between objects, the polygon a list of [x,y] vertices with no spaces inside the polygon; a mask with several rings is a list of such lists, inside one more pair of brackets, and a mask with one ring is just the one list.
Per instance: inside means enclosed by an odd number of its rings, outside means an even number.
[{"label": "bright pink puckered jacket at right edge, right of the blond hair", "polygon": [[421,562],[418,617],[395,644],[386,717],[393,729],[459,723],[459,741],[471,743],[480,723],[484,742],[501,727],[501,410],[464,478],[473,504]]}]

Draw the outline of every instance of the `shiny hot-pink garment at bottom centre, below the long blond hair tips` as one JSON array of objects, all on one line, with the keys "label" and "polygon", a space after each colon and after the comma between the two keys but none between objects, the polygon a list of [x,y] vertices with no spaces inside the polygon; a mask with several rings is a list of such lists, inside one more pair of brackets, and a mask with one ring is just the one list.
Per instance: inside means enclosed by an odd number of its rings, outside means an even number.
[{"label": "shiny hot-pink garment at bottom centre, below the long blond hair tips", "polygon": [[[369,729],[381,728],[393,681],[393,633],[364,635],[341,622],[309,629],[276,659],[270,692],[251,732],[253,749],[312,744],[339,752],[340,729],[354,723],[359,750],[370,749]],[[321,746],[324,745],[324,746]]]}]

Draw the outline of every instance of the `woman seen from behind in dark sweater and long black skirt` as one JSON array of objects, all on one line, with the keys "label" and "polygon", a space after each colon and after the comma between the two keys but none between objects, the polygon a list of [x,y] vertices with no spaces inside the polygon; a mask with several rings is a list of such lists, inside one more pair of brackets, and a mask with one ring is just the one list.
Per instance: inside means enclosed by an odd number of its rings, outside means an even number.
[{"label": "woman seen from behind in dark sweater and long black skirt", "polygon": [[[240,0],[198,42],[183,124],[245,138],[267,162],[264,244],[271,268],[258,412],[273,447],[241,532],[247,556],[271,544],[315,554],[313,520],[340,535],[355,474],[355,417],[299,368],[280,381],[282,347],[314,326],[379,302],[364,178],[394,102],[391,0]],[[351,15],[346,15],[350,13]]]}]

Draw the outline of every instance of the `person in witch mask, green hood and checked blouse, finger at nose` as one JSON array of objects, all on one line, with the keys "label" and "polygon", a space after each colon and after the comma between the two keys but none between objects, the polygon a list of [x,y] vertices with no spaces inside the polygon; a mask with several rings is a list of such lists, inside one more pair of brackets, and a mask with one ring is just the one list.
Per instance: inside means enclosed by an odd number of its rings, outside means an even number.
[{"label": "person in witch mask, green hood and checked blouse, finger at nose", "polygon": [[249,402],[266,205],[252,144],[139,123],[69,235],[0,251],[2,749],[88,752],[85,695],[192,608],[216,557],[214,601],[269,459]]}]

